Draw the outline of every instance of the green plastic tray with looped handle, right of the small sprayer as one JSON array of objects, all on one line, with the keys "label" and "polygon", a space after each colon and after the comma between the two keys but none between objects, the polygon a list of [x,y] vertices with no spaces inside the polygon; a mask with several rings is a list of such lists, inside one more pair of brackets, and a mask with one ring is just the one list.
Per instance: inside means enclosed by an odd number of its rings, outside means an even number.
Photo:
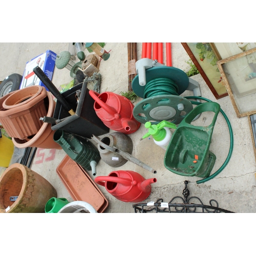
[{"label": "green plastic tray with looped handle, right of the small sprayer", "polygon": [[[190,124],[194,118],[206,111],[215,113],[208,126]],[[220,105],[205,102],[197,105],[179,124],[164,156],[164,166],[182,176],[208,177],[214,167],[216,156],[209,152],[212,132]]]}]

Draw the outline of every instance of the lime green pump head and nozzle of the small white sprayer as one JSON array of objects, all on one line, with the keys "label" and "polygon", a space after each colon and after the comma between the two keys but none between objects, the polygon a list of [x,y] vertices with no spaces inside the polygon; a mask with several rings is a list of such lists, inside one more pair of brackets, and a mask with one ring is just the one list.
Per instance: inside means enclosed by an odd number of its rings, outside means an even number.
[{"label": "lime green pump head and nozzle of the small white sprayer", "polygon": [[145,127],[148,129],[148,133],[146,133],[140,140],[145,139],[147,137],[152,137],[157,140],[161,141],[165,138],[166,131],[164,130],[164,127],[176,129],[177,126],[174,123],[170,123],[168,121],[161,121],[158,124],[151,124],[151,122],[146,122]]}]

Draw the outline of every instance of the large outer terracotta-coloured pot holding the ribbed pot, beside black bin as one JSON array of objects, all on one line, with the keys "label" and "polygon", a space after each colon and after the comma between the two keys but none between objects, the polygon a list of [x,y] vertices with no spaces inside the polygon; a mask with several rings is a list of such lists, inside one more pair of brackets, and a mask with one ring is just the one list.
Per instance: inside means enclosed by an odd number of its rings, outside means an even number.
[{"label": "large outer terracotta-coloured pot holding the ribbed pot, beside black bin", "polygon": [[[56,102],[53,100],[52,94],[47,92],[49,100],[49,108],[46,116],[52,117],[55,109]],[[40,147],[40,148],[56,148],[61,150],[62,147],[53,140],[55,131],[51,129],[50,123],[43,123],[40,130],[30,139],[20,140],[12,138],[13,144],[18,148],[25,147]]]}]

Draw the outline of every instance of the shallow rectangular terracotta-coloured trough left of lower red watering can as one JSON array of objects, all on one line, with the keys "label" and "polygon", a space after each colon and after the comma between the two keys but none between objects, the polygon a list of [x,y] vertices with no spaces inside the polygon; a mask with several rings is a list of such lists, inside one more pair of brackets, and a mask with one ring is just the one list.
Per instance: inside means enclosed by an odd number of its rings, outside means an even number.
[{"label": "shallow rectangular terracotta-coloured trough left of lower red watering can", "polygon": [[82,167],[66,155],[56,172],[75,201],[91,204],[97,212],[103,212],[109,201]]}]

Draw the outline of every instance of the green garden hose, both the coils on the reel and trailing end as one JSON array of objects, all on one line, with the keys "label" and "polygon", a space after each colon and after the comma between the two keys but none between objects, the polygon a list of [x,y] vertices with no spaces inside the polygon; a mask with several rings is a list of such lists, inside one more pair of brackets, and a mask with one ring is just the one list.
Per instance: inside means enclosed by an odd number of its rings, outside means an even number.
[{"label": "green garden hose, both the coils on the reel and trailing end", "polygon": [[[152,96],[157,96],[157,95],[179,95],[178,94],[178,86],[177,84],[169,78],[155,78],[152,79],[151,81],[147,82],[145,85],[145,90],[144,90],[144,98],[148,98],[148,97],[152,97]],[[186,99],[199,99],[199,100],[204,100],[204,101],[208,101],[211,102],[211,100],[203,98],[203,97],[199,97],[199,96],[187,96],[184,97]],[[199,105],[202,104],[203,102],[198,102],[198,101],[192,101],[190,100],[190,102],[192,104],[195,105]],[[226,114],[224,113],[224,111],[221,109],[220,110],[221,114],[224,116],[227,125],[228,125],[228,129],[229,129],[229,134],[230,134],[230,147],[229,147],[229,152],[227,155],[226,160],[224,161],[224,163],[222,164],[222,166],[212,175],[210,175],[209,177],[199,180],[197,181],[197,184],[206,182],[214,177],[216,177],[218,174],[220,174],[222,172],[222,170],[226,167],[226,165],[228,164],[231,155],[232,155],[232,151],[233,151],[233,132],[232,132],[232,127],[231,124],[226,116]]]}]

